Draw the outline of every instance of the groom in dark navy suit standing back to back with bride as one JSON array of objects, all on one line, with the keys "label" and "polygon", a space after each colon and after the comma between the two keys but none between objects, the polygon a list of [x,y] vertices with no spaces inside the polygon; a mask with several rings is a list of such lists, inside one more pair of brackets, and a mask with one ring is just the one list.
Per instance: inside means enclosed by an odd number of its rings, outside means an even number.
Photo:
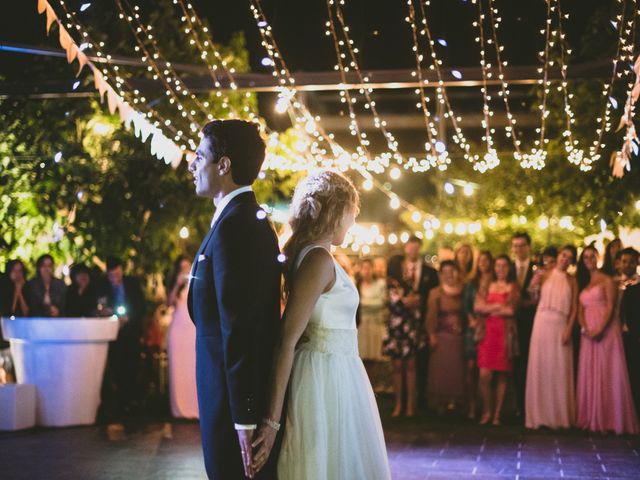
[{"label": "groom in dark navy suit standing back to back with bride", "polygon": [[251,190],[264,156],[256,124],[216,120],[202,129],[189,166],[196,193],[216,207],[188,300],[202,448],[207,475],[216,480],[276,478],[277,452],[255,474],[251,447],[267,409],[280,322],[278,241]]}]

